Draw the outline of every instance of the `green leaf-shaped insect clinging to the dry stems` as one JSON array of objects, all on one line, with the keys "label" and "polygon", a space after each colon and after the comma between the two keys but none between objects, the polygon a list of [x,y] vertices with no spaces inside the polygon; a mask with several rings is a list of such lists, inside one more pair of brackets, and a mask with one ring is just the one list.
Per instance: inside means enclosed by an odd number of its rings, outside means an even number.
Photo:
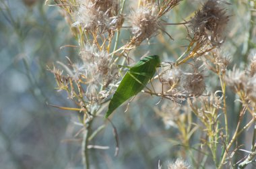
[{"label": "green leaf-shaped insect clinging to the dry stems", "polygon": [[122,105],[130,97],[141,92],[149,80],[154,76],[156,68],[160,66],[159,56],[148,56],[139,60],[130,70],[125,74],[123,80],[119,84],[117,91],[113,95],[106,112],[107,118],[117,107]]}]

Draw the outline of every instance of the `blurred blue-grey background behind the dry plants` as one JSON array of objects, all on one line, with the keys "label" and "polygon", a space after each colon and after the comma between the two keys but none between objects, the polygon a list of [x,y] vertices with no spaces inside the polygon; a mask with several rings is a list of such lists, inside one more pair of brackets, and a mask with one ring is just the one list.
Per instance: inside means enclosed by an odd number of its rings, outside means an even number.
[{"label": "blurred blue-grey background behind the dry plants", "polygon": [[[169,23],[189,19],[202,2],[184,0],[165,19]],[[255,11],[250,10],[249,4],[253,1],[228,2],[231,17],[224,52],[232,58],[230,68],[234,64],[243,67],[255,52],[251,43],[255,42],[255,27],[251,23]],[[128,5],[126,10],[130,10]],[[177,59],[185,50],[182,46],[188,43],[187,30],[183,26],[168,26],[166,32],[174,40],[161,34],[131,54],[142,56],[150,52],[163,61]],[[121,36],[129,38],[125,32]],[[44,0],[0,0],[0,168],[82,168],[81,139],[75,137],[81,127],[76,125],[76,114],[46,105],[75,106],[67,100],[66,93],[55,89],[54,75],[47,70],[57,60],[67,62],[65,56],[79,60],[74,48],[61,48],[69,44],[76,45],[76,41],[58,7],[44,5]],[[208,81],[209,91],[212,82],[213,79]],[[231,93],[229,97],[235,98]],[[158,101],[159,98],[140,94],[127,113],[122,109],[115,113],[119,156],[114,156],[115,138],[109,126],[94,142],[110,149],[90,150],[92,168],[158,168],[158,160],[166,168],[168,162],[179,157],[179,148],[170,142],[177,130],[164,125],[152,109]],[[229,104],[234,113],[230,121],[236,121],[238,105]],[[98,123],[104,122],[98,119]],[[230,130],[234,127],[230,123]]]}]

